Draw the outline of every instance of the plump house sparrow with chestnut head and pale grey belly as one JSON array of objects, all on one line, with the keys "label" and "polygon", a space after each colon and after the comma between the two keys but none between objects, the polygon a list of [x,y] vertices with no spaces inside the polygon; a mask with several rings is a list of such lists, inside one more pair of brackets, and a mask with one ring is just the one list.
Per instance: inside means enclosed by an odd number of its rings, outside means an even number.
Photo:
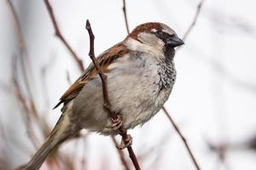
[{"label": "plump house sparrow with chestnut head and pale grey belly", "polygon": [[[183,44],[175,31],[158,22],[137,26],[123,42],[97,57],[108,76],[111,110],[119,113],[125,130],[143,125],[164,105],[176,79],[174,48]],[[61,96],[62,115],[49,138],[26,165],[36,170],[49,153],[82,128],[114,135],[111,117],[103,108],[102,81],[93,64]]]}]

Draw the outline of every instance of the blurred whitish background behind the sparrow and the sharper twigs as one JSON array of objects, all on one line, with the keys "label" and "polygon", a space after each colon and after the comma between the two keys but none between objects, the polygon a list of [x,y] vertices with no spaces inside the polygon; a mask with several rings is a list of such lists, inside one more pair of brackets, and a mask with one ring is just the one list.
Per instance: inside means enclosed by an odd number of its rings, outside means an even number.
[{"label": "blurred whitish background behind the sparrow and the sharper twigs", "polygon": [[[127,35],[121,0],[49,3],[62,36],[85,67],[90,64],[86,19],[96,36],[96,54]],[[256,168],[255,5],[250,0],[126,1],[130,30],[159,21],[184,37],[192,26],[177,49],[177,82],[166,110],[204,170]],[[9,170],[24,165],[43,143],[61,114],[53,106],[81,70],[55,36],[43,0],[0,0],[0,37],[0,169]],[[195,169],[163,111],[129,133],[142,169]],[[84,131],[62,144],[41,169],[133,166],[127,150],[119,153],[111,138]]]}]

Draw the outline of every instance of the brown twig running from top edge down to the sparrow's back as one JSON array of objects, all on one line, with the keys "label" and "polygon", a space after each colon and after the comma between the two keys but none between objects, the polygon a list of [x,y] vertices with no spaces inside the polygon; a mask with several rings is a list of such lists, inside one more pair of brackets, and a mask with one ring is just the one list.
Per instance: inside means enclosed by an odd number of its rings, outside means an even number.
[{"label": "brown twig running from top edge down to the sparrow's back", "polygon": [[55,36],[61,39],[61,42],[64,43],[64,45],[66,46],[66,48],[68,49],[69,53],[72,54],[73,59],[76,61],[77,65],[79,66],[79,70],[80,71],[84,71],[84,65],[83,65],[83,61],[82,59],[79,59],[78,54],[76,54],[73,50],[73,48],[71,48],[71,46],[67,43],[67,40],[62,36],[61,31],[59,29],[59,26],[55,20],[55,14],[53,12],[52,7],[49,4],[49,0],[44,0],[44,3],[46,5],[46,8],[48,10],[49,13],[49,17],[50,20],[52,21],[52,24],[55,28]]}]

